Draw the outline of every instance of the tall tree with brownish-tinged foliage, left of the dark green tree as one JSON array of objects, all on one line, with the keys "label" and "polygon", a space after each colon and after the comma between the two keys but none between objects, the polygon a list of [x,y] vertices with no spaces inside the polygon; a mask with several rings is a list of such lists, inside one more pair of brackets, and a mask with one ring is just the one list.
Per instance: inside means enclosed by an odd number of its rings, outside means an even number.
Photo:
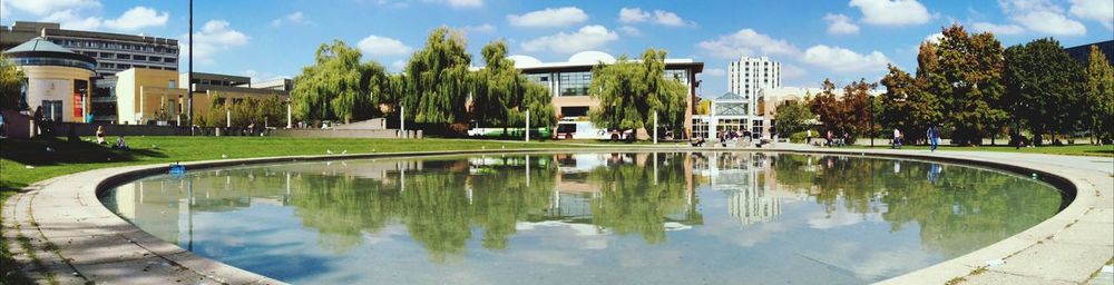
[{"label": "tall tree with brownish-tinged foliage, left of the dark green tree", "polygon": [[954,129],[951,139],[978,145],[1005,121],[1003,48],[993,33],[968,35],[961,26],[945,28],[936,50],[939,76],[930,89],[940,96]]}]

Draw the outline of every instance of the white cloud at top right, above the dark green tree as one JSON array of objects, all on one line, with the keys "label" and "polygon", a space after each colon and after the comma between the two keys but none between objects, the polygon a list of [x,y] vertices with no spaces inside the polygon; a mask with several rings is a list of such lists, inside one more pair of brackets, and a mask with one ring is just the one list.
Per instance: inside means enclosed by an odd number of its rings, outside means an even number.
[{"label": "white cloud at top right, above the dark green tree", "polygon": [[999,0],[1001,11],[1026,30],[1053,36],[1083,36],[1087,27],[1067,18],[1064,8],[1048,0]]}]

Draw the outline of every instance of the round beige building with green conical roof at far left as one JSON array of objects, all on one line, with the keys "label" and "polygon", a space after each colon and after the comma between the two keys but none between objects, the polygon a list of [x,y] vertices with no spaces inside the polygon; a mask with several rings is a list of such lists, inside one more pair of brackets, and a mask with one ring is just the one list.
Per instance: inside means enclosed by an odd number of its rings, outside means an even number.
[{"label": "round beige building with green conical roof at far left", "polygon": [[3,55],[27,76],[23,101],[28,109],[42,108],[48,120],[86,121],[97,60],[45,38],[32,38]]}]

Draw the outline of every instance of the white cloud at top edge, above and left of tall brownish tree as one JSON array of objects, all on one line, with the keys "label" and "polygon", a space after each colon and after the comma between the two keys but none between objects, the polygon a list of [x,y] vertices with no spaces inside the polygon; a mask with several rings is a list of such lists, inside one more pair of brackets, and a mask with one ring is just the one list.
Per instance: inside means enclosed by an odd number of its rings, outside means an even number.
[{"label": "white cloud at top edge, above and left of tall brownish tree", "polygon": [[917,0],[851,0],[862,11],[862,22],[878,26],[921,24],[932,18]]}]

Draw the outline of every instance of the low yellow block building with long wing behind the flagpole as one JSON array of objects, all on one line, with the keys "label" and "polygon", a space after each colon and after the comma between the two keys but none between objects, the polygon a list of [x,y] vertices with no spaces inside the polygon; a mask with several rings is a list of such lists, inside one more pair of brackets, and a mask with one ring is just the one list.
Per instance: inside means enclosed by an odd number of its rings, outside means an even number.
[{"label": "low yellow block building with long wing behind the flagpole", "polygon": [[[166,121],[176,125],[186,120],[189,96],[186,73],[170,70],[131,68],[117,73],[116,94],[118,124],[145,125]],[[290,99],[290,90],[248,88],[247,77],[194,72],[194,116],[207,114],[214,100],[265,99],[277,96]],[[221,101],[217,101],[218,104]]]}]

